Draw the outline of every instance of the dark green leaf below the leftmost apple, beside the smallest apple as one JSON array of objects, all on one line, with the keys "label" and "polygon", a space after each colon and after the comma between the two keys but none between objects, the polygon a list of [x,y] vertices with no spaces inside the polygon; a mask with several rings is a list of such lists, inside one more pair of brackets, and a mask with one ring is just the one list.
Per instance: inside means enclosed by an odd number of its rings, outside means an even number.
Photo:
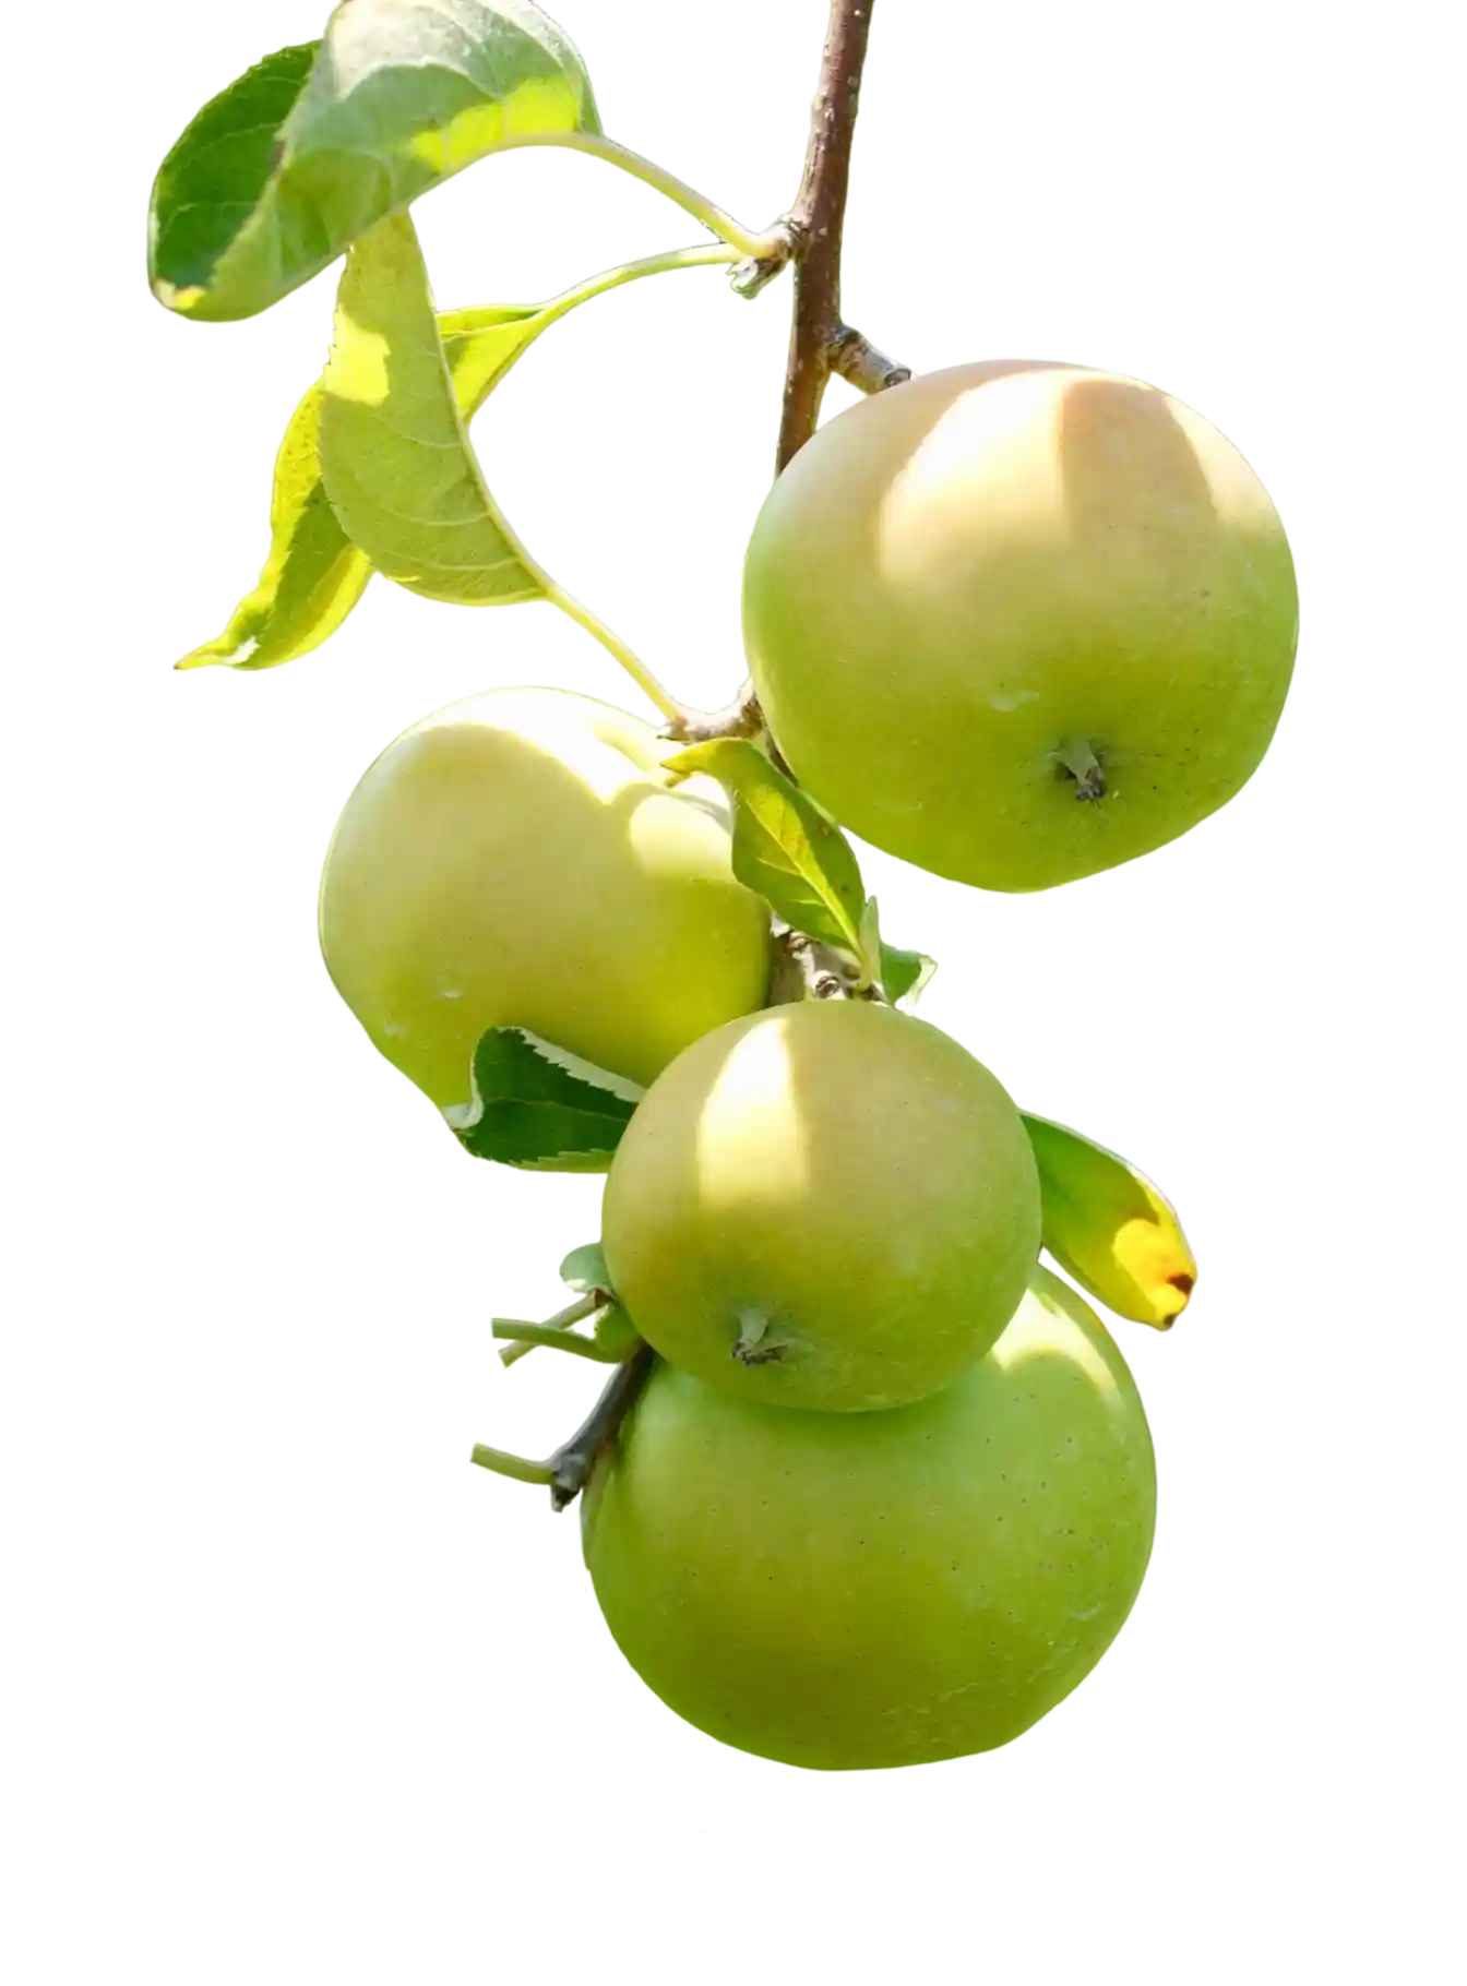
[{"label": "dark green leaf below the leftmost apple, beside the smallest apple", "polygon": [[610,1164],[638,1096],[636,1084],[523,1027],[491,1027],[473,1051],[473,1102],[445,1120],[485,1166],[594,1176]]}]

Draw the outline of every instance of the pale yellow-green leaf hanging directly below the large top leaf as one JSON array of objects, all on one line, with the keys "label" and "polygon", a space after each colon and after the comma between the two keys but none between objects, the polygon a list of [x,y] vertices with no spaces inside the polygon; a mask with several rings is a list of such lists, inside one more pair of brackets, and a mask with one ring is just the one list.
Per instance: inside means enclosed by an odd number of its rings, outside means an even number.
[{"label": "pale yellow-green leaf hanging directly below the large top leaf", "polygon": [[348,254],[322,383],[326,495],[386,580],[445,606],[543,598],[463,425],[411,214]]}]

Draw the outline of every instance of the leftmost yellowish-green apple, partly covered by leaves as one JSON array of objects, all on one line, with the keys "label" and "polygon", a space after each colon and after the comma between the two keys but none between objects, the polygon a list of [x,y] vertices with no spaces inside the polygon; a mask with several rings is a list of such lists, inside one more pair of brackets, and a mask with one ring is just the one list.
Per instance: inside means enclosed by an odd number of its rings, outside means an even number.
[{"label": "leftmost yellowish-green apple, partly covered by leaves", "polygon": [[487,1027],[632,1082],[757,1009],[767,906],[730,866],[722,788],[670,790],[678,747],[559,689],[489,689],[400,731],[320,870],[332,991],[435,1110],[467,1104]]}]

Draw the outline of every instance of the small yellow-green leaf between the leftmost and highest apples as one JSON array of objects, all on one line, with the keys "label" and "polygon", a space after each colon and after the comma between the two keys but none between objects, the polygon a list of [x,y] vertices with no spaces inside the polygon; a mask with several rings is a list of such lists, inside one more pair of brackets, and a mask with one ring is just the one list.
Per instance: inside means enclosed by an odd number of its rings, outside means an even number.
[{"label": "small yellow-green leaf between the leftmost and highest apples", "polygon": [[747,739],[712,739],[664,761],[674,779],[712,775],[734,800],[734,874],[807,937],[863,955],[867,878],[809,794]]}]

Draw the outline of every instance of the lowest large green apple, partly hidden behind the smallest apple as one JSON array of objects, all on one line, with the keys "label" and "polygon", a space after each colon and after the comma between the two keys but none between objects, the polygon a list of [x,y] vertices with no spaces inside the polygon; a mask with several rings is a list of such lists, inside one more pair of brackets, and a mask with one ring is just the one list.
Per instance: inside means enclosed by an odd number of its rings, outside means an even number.
[{"label": "lowest large green apple, partly hidden behind the smallest apple", "polygon": [[1157,1452],[1121,1345],[1040,1271],[956,1384],[757,1406],[656,1364],[578,1505],[614,1650],[704,1738],[803,1772],[1004,1752],[1147,1585]]}]

